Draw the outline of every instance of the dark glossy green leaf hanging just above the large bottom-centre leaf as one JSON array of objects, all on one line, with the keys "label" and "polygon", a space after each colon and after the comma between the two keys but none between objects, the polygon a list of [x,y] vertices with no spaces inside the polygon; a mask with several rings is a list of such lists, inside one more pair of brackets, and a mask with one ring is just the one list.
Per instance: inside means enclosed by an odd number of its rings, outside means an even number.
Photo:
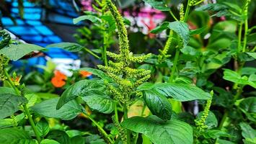
[{"label": "dark glossy green leaf hanging just above the large bottom-centre leaf", "polygon": [[172,104],[168,99],[154,90],[144,91],[144,101],[152,114],[160,117],[162,120],[170,120],[172,117]]}]

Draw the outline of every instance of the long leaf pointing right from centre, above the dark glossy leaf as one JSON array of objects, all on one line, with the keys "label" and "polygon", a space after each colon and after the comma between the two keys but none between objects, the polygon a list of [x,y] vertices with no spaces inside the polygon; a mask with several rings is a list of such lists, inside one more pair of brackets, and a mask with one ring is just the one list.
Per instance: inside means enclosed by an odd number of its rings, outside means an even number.
[{"label": "long leaf pointing right from centre, above the dark glossy leaf", "polygon": [[191,84],[150,84],[145,83],[138,86],[139,91],[155,89],[160,94],[167,97],[172,97],[180,102],[193,101],[195,99],[211,99],[211,94],[206,93],[197,86]]}]

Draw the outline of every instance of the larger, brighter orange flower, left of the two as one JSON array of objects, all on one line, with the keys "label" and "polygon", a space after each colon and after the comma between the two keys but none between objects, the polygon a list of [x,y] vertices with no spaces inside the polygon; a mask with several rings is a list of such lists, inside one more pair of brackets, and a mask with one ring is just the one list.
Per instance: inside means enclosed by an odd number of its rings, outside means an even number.
[{"label": "larger, brighter orange flower, left of the two", "polygon": [[60,71],[55,71],[54,72],[54,77],[51,79],[51,83],[53,84],[53,86],[55,86],[56,88],[61,88],[62,86],[64,86],[66,84],[66,76],[61,73]]}]

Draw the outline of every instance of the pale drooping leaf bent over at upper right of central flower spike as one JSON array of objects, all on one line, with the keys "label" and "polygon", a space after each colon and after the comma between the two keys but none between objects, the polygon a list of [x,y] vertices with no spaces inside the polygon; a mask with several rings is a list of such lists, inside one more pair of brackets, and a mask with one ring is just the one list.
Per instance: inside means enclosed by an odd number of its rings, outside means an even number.
[{"label": "pale drooping leaf bent over at upper right of central flower spike", "polygon": [[163,30],[170,29],[177,33],[183,40],[183,46],[185,47],[190,40],[190,30],[185,22],[164,22],[158,27],[151,30],[152,33],[162,32]]}]

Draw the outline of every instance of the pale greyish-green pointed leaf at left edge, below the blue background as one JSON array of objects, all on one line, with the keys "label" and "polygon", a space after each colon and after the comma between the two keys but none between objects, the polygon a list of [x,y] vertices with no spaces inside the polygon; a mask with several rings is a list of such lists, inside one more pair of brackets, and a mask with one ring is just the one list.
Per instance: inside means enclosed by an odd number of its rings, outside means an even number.
[{"label": "pale greyish-green pointed leaf at left edge, below the blue background", "polygon": [[45,48],[28,43],[22,43],[18,45],[12,44],[9,45],[9,47],[1,49],[0,53],[6,55],[6,57],[8,57],[10,60],[16,61],[34,50],[45,50]]}]

